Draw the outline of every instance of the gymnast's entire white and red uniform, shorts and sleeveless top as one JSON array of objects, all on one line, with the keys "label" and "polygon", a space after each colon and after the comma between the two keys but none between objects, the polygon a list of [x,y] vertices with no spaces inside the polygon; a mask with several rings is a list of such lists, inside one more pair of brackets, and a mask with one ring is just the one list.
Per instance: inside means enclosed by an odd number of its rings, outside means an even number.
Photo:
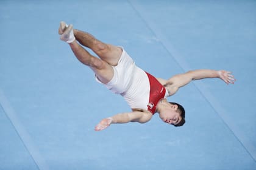
[{"label": "gymnast's entire white and red uniform, shorts and sleeveless top", "polygon": [[[158,101],[168,96],[168,91],[151,74],[136,66],[123,49],[114,76],[107,84],[108,89],[120,94],[132,109],[145,109],[155,114]],[[96,80],[101,83],[96,77]]]}]

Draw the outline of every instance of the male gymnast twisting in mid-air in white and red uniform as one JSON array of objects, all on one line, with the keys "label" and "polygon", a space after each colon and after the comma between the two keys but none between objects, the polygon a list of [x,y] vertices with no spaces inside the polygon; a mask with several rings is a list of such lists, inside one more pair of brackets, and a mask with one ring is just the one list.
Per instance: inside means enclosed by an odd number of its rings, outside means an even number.
[{"label": "male gymnast twisting in mid-air in white and red uniform", "polygon": [[[104,118],[96,125],[95,131],[102,131],[113,123],[146,123],[156,112],[164,123],[182,126],[185,110],[178,103],[168,102],[167,97],[192,80],[220,78],[226,84],[235,83],[232,73],[226,70],[191,70],[168,80],[155,78],[136,66],[123,47],[105,44],[90,33],[73,29],[72,24],[60,22],[59,35],[62,41],[68,42],[76,58],[93,70],[96,81],[120,94],[132,109],[131,112]],[[99,58],[82,46],[93,50]]]}]

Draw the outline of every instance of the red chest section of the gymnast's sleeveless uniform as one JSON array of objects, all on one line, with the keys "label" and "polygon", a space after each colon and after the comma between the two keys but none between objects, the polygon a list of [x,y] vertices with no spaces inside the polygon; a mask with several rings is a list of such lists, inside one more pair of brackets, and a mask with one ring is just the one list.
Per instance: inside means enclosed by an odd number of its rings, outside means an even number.
[{"label": "red chest section of the gymnast's sleeveless uniform", "polygon": [[[147,72],[146,72],[147,73]],[[157,109],[157,103],[165,98],[165,87],[157,81],[157,79],[151,74],[147,73],[150,83],[150,94],[149,94],[149,104],[148,110],[153,115],[155,114],[155,110]]]}]

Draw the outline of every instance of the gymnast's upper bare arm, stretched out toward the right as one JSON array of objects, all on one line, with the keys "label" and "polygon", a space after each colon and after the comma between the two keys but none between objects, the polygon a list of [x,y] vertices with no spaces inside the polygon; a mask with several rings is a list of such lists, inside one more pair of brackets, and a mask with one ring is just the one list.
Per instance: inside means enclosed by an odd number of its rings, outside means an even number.
[{"label": "gymnast's upper bare arm, stretched out toward the right", "polygon": [[227,72],[226,70],[208,69],[192,70],[186,73],[175,75],[174,77],[169,78],[169,80],[163,80],[162,78],[159,78],[158,81],[160,81],[160,83],[168,89],[169,95],[173,95],[177,92],[179,87],[185,86],[192,80],[201,80],[203,78],[220,78],[227,84],[233,84],[235,82],[235,78],[231,72]]}]

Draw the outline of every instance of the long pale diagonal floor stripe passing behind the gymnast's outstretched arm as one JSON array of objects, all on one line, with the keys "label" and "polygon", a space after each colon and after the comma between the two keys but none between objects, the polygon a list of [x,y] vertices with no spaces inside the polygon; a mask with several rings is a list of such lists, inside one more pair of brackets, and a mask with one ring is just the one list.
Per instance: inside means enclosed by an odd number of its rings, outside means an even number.
[{"label": "long pale diagonal floor stripe passing behind the gymnast's outstretched arm", "polygon": [[[150,18],[148,18],[148,15],[146,15],[146,11],[141,7],[141,5],[137,1],[133,0],[127,0],[129,4],[132,6],[132,8],[138,13],[141,19],[146,22],[146,25],[148,25],[149,29],[157,36],[158,39],[160,39],[160,42],[162,43],[163,47],[168,51],[168,53],[176,60],[177,64],[183,69],[183,70],[191,70],[187,62],[183,59],[181,55],[172,47],[171,43],[169,42],[169,39],[165,38],[165,35],[162,34],[161,30],[158,29],[157,25],[154,24],[154,22],[151,21]],[[219,114],[219,117],[222,118],[224,123],[227,124],[230,131],[233,132],[235,137],[240,141],[240,143],[244,146],[246,151],[249,155],[251,155],[252,159],[256,162],[256,148],[254,144],[252,143],[249,138],[244,135],[244,133],[235,125],[235,121],[233,121],[233,118],[229,117],[227,114],[227,111],[223,109],[221,104],[213,97],[213,95],[205,88],[204,83],[201,82],[194,82],[196,88],[201,92],[202,96],[205,98],[205,100],[208,101],[208,103],[213,107],[213,109]]]}]

